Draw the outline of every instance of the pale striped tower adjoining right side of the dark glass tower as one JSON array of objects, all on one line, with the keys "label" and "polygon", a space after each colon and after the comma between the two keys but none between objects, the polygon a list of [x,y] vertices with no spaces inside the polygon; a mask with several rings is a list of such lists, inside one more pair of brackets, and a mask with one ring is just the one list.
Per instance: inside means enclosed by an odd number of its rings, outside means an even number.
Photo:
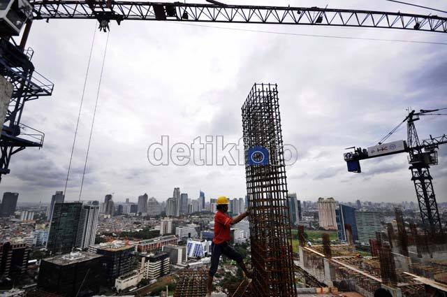
[{"label": "pale striped tower adjoining right side of the dark glass tower", "polygon": [[89,201],[82,205],[75,247],[86,249],[94,245],[96,231],[98,231],[98,216],[98,201]]}]

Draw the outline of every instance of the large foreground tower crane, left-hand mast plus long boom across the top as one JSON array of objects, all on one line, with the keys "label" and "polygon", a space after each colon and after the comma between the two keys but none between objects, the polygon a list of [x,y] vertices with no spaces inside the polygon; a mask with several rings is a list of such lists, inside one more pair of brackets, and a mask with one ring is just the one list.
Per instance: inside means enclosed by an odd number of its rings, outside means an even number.
[{"label": "large foreground tower crane, left-hand mast plus long boom across the top", "polygon": [[[8,174],[10,158],[26,147],[42,147],[44,133],[20,122],[24,104],[51,96],[54,85],[34,68],[34,52],[25,49],[33,20],[92,19],[108,31],[110,21],[224,22],[301,26],[388,28],[447,33],[447,18],[318,7],[228,5],[210,3],[115,0],[0,0],[0,180]],[[22,33],[20,44],[13,36]],[[8,82],[8,83],[7,83]],[[4,87],[8,85],[9,87]],[[10,99],[8,99],[10,97]],[[4,112],[4,113],[3,113]]]}]

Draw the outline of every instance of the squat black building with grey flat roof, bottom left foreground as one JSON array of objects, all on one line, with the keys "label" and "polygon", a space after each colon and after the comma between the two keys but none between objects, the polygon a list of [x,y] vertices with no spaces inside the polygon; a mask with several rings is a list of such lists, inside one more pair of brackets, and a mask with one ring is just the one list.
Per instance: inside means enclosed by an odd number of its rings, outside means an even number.
[{"label": "squat black building with grey flat roof, bottom left foreground", "polygon": [[104,284],[101,255],[72,252],[42,259],[37,287],[60,296],[91,296]]}]

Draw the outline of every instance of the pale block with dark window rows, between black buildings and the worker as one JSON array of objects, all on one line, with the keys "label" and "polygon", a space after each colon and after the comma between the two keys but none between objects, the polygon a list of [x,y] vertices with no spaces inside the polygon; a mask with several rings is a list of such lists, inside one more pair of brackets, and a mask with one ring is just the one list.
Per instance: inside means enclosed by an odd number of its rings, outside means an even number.
[{"label": "pale block with dark window rows, between black buildings and the worker", "polygon": [[149,254],[141,257],[140,272],[146,280],[156,280],[170,272],[169,255],[165,252]]}]

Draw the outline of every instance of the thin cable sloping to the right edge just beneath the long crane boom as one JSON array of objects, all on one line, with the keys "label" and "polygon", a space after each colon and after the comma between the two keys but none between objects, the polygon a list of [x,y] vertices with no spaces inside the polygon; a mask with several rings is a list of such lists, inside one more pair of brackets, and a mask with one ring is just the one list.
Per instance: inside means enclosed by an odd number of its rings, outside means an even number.
[{"label": "thin cable sloping to the right edge just beneath the long crane boom", "polygon": [[256,32],[256,33],[268,33],[268,34],[278,34],[278,35],[290,35],[290,36],[307,36],[307,37],[322,37],[322,38],[337,38],[337,39],[357,39],[357,40],[362,40],[362,41],[391,41],[391,42],[399,42],[399,43],[422,43],[422,44],[447,45],[447,43],[441,43],[441,42],[435,42],[435,41],[406,41],[403,39],[382,39],[382,38],[335,36],[335,35],[298,34],[298,33],[263,31],[263,30],[254,30],[254,29],[227,28],[227,27],[219,27],[219,26],[210,26],[210,25],[205,25],[205,24],[189,24],[189,23],[183,23],[183,22],[169,22],[169,23],[170,24],[182,24],[182,25],[186,25],[186,26],[195,26],[195,27],[225,29],[225,30],[233,30],[233,31],[246,31],[246,32]]}]

